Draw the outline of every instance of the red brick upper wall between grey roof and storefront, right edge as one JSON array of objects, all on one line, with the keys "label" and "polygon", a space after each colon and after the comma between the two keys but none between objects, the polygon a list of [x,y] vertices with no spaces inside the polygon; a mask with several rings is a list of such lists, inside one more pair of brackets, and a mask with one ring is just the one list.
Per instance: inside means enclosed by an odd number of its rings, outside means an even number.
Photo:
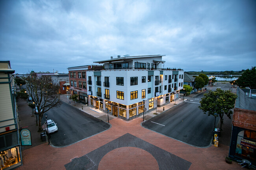
[{"label": "red brick upper wall between grey roof and storefront, right edge", "polygon": [[256,131],[256,111],[234,108],[233,126]]}]

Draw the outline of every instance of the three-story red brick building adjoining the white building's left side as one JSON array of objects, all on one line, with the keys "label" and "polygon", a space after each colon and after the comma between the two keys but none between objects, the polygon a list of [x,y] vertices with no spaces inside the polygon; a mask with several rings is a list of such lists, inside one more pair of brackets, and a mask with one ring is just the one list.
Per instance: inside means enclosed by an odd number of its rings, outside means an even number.
[{"label": "three-story red brick building adjoining the white building's left side", "polygon": [[103,67],[100,65],[87,65],[69,67],[67,69],[69,70],[70,95],[78,94],[79,102],[88,104],[86,71],[100,70],[103,69]]}]

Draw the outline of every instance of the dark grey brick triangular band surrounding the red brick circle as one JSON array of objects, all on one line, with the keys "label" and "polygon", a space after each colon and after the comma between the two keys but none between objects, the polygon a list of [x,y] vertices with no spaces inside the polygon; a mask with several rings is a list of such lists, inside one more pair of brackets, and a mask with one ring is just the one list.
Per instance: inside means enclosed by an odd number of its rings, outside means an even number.
[{"label": "dark grey brick triangular band surrounding the red brick circle", "polygon": [[[161,148],[158,148],[157,146],[154,146],[146,141],[143,141],[142,139],[139,139],[134,135],[131,135],[130,133],[126,133],[125,135],[122,135],[121,137],[86,154],[85,157],[88,159],[88,161],[86,162],[87,164],[84,164],[85,169],[97,170],[101,159],[106,154],[108,154],[108,152],[111,152],[112,150],[122,147],[135,147],[147,151],[156,159],[159,165],[159,170],[188,170],[189,166],[191,165],[190,162],[180,157],[177,157],[176,155],[173,155],[170,152],[167,152]],[[137,150],[135,150],[134,152],[136,151]],[[126,159],[125,157],[122,158]],[[81,157],[80,163],[83,163],[83,160],[84,156]],[[76,159],[75,163],[77,163],[77,161],[78,160]],[[72,166],[72,164],[73,161],[65,165],[66,169],[76,170],[76,167]]]}]

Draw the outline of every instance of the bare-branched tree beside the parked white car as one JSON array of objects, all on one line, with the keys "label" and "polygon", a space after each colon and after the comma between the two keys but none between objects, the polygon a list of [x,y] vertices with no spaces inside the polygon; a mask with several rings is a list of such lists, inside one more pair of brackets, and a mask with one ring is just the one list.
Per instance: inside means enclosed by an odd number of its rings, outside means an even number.
[{"label": "bare-branched tree beside the parked white car", "polygon": [[26,77],[26,86],[28,93],[32,97],[33,102],[38,110],[39,127],[38,132],[41,132],[41,120],[45,112],[51,108],[61,105],[59,97],[59,86],[53,84],[50,77],[37,77],[35,73],[31,73]]}]

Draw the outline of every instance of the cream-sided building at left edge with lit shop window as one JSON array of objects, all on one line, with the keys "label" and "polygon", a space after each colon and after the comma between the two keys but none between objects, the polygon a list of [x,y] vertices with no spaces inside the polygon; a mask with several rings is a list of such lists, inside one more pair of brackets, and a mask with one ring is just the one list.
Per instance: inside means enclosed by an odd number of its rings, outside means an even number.
[{"label": "cream-sided building at left edge with lit shop window", "polygon": [[10,61],[0,61],[0,169],[22,165],[16,88]]}]

